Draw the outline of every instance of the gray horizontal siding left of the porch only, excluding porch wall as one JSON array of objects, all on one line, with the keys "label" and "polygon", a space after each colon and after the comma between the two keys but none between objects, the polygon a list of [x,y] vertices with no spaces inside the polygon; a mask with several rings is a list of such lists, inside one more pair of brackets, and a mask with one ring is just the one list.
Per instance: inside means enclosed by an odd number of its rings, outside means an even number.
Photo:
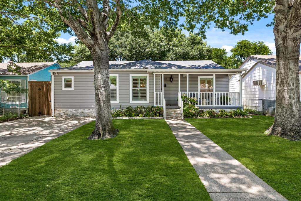
[{"label": "gray horizontal siding left of the porch only, excluding porch wall", "polygon": [[[119,103],[112,103],[112,108],[138,105],[154,105],[154,75],[149,74],[149,103],[129,103],[129,74],[144,72],[113,72],[119,74]],[[62,90],[62,77],[74,76],[74,90]],[[54,75],[54,107],[56,109],[91,109],[95,108],[93,72],[60,72]]]}]

